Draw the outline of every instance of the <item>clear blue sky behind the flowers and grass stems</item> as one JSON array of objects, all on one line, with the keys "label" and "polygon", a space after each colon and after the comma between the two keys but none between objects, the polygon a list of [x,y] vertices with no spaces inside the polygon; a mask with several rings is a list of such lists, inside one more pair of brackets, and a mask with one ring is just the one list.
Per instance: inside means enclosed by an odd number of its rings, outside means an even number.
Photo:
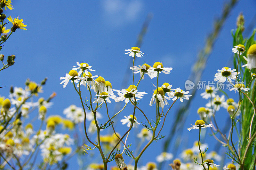
[{"label": "clear blue sky behind the flowers and grass stems", "polygon": [[[135,45],[137,35],[149,12],[153,13],[153,19],[140,48],[147,55],[137,58],[135,65],[148,63],[152,66],[155,61],[163,62],[165,67],[172,67],[173,70],[169,75],[161,74],[160,84],[169,82],[175,88],[184,88],[197,52],[203,47],[206,35],[212,30],[213,19],[220,16],[224,2],[14,1],[12,2],[14,9],[7,10],[6,16],[11,15],[15,18],[19,16],[28,26],[27,31],[17,30],[13,33],[1,50],[5,56],[16,55],[14,66],[1,71],[0,83],[1,86],[6,86],[5,90],[1,89],[1,96],[8,95],[7,89],[11,85],[24,87],[27,78],[39,83],[44,77],[48,77],[43,97],[47,98],[53,91],[57,93],[48,115],[63,116],[63,109],[69,105],[80,106],[72,84],[68,84],[66,88],[62,88],[59,84],[59,78],[68,73],[76,62],[89,63],[92,69],[97,70],[97,75],[110,81],[114,89],[120,89],[120,81],[123,80],[130,60],[129,56],[124,54],[124,49],[130,49]],[[230,30],[236,27],[236,17],[240,12],[245,16],[246,27],[254,16],[255,7],[256,3],[253,0],[246,0],[239,1],[232,10],[214,45],[202,80],[212,81],[217,69],[233,66],[229,62],[233,45]],[[10,24],[7,27],[10,27]],[[139,75],[136,74],[135,81],[138,80]],[[149,106],[154,89],[152,83],[156,83],[156,79],[146,77],[140,83],[139,89],[148,92],[148,95],[141,100],[143,110],[148,115],[151,115],[150,109],[153,108]],[[201,99],[199,95],[201,92],[203,90],[197,91],[185,128],[190,127],[190,123],[193,124],[198,119],[197,108],[207,103]],[[86,95],[88,93],[84,89],[84,96]],[[167,134],[172,126],[172,113],[177,106],[178,104],[175,104],[174,110],[167,117],[168,124],[166,123],[162,131],[163,135]],[[113,113],[113,108],[114,102],[109,104],[109,112]],[[129,115],[131,108],[128,107],[127,111],[121,114],[120,119]],[[99,112],[106,116],[105,107]],[[226,114],[225,110],[223,114]],[[138,120],[145,121],[140,112],[136,116]],[[220,121],[220,127],[224,126],[226,118],[222,119],[218,115],[216,117]],[[118,127],[124,127],[120,122],[118,123]],[[185,142],[181,143],[183,149],[192,147],[193,142],[197,140],[197,133],[197,131],[184,130],[183,134],[186,137],[183,139]],[[155,161],[155,157],[150,156],[149,153],[160,154],[163,141],[154,142],[143,154],[141,163]],[[209,150],[212,150],[215,145],[213,137],[208,136],[206,142],[211,144],[212,148]],[[84,159],[87,159],[86,156]],[[76,161],[75,158],[71,160]]]}]

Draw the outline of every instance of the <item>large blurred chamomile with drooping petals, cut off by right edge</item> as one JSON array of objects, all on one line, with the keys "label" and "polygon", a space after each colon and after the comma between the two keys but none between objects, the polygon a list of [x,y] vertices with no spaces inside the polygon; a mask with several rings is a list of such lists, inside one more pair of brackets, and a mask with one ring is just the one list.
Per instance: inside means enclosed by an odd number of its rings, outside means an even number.
[{"label": "large blurred chamomile with drooping petals, cut off by right edge", "polygon": [[244,66],[247,66],[248,69],[256,68],[256,44],[252,44],[247,51],[247,58],[244,56],[244,59],[247,63]]}]

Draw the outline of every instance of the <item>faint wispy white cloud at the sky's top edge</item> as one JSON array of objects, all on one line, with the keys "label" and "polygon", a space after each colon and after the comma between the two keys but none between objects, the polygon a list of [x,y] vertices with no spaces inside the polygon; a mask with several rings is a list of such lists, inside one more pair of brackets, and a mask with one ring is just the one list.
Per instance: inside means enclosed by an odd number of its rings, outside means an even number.
[{"label": "faint wispy white cloud at the sky's top edge", "polygon": [[112,27],[130,24],[140,14],[142,2],[140,0],[106,0],[103,3],[104,20]]}]

